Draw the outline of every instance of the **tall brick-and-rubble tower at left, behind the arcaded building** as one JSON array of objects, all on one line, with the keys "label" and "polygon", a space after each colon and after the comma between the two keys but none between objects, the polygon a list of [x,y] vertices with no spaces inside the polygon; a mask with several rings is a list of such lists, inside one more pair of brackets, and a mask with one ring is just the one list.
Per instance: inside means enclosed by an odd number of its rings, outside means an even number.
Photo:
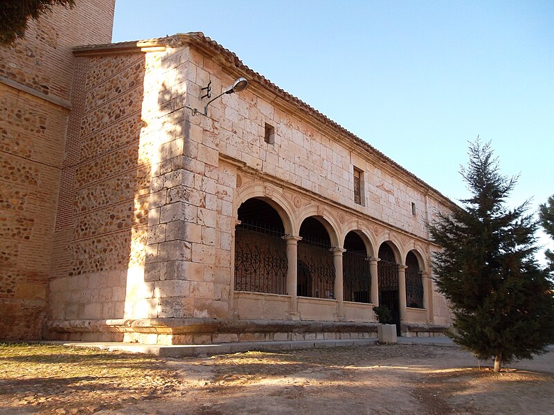
[{"label": "tall brick-and-rubble tower at left, behind the arcaded building", "polygon": [[0,48],[0,339],[42,338],[73,46],[111,40],[115,0],[78,1]]}]

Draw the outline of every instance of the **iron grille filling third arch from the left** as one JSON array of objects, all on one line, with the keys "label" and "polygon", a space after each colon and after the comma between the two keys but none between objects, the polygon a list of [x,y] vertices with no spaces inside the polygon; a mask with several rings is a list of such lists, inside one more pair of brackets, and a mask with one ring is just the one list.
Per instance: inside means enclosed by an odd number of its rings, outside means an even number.
[{"label": "iron grille filling third arch from the left", "polygon": [[343,254],[344,300],[371,302],[371,274],[366,253],[346,251]]}]

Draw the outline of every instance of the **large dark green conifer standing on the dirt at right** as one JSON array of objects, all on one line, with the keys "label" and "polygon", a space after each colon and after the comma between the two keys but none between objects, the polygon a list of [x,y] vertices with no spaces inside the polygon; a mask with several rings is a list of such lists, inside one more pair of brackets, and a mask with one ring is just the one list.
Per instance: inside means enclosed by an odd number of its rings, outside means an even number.
[{"label": "large dark green conifer standing on the dirt at right", "polygon": [[472,196],[429,224],[443,248],[433,258],[434,282],[452,308],[454,342],[477,358],[494,357],[499,371],[554,342],[554,287],[534,258],[537,222],[527,203],[505,206],[517,178],[499,173],[490,144],[478,139],[469,156],[461,174]]}]

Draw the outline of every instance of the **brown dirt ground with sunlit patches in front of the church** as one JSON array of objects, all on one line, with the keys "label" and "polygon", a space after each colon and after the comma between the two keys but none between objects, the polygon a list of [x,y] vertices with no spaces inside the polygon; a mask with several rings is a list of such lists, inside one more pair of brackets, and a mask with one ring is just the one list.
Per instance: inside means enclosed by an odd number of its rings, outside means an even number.
[{"label": "brown dirt ground with sunlit patches in front of the church", "polygon": [[553,352],[494,374],[424,344],[182,359],[10,347],[1,414],[554,414]]}]

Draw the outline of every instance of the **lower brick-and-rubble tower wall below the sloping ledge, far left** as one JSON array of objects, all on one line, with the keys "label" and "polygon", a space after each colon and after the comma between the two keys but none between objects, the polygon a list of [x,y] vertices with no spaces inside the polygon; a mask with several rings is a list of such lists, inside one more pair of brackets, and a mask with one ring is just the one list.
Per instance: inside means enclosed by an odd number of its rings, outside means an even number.
[{"label": "lower brick-and-rubble tower wall below the sloping ledge, far left", "polygon": [[42,335],[66,117],[0,82],[0,339]]}]

